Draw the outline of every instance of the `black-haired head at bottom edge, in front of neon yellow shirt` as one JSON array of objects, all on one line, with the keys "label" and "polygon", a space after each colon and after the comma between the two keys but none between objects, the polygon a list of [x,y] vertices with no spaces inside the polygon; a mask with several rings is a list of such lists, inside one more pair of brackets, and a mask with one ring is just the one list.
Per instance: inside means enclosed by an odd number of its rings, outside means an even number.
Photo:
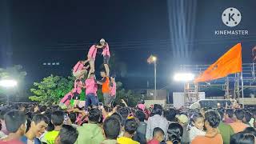
[{"label": "black-haired head at bottom edge, in front of neon yellow shirt", "polygon": [[58,135],[61,144],[73,144],[78,139],[78,130],[73,126],[63,125]]}]

